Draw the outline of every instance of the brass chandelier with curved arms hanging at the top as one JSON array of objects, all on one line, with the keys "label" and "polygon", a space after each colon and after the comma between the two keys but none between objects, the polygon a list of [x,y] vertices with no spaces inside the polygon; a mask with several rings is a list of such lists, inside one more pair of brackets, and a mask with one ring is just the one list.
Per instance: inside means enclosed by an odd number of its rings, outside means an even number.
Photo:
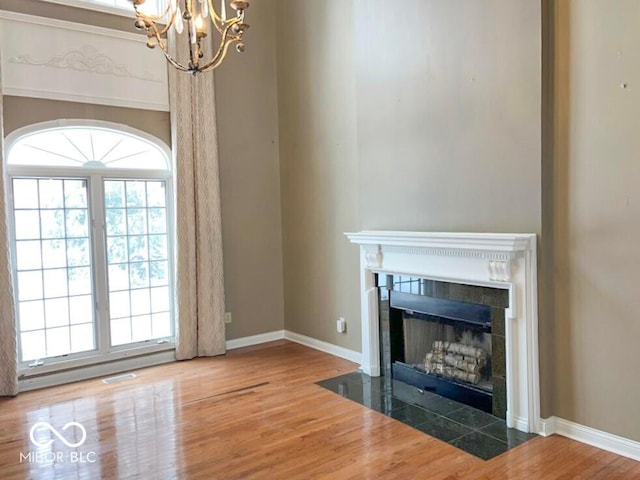
[{"label": "brass chandelier with curved arms hanging at the top", "polygon": [[[238,52],[244,52],[242,35],[249,28],[244,23],[244,12],[249,8],[249,2],[233,0],[230,5],[236,14],[230,18],[227,18],[225,0],[221,1],[220,13],[213,7],[213,0],[168,0],[167,7],[160,14],[145,12],[145,0],[132,2],[137,17],[135,26],[147,34],[147,47],[158,45],[169,63],[178,70],[194,75],[213,70],[222,63],[232,43],[236,44]],[[186,31],[189,46],[189,63],[186,65],[167,49],[167,33],[171,28],[178,39]],[[217,47],[213,44],[203,47],[203,40],[215,31],[220,35]],[[211,52],[204,59],[209,48]]]}]

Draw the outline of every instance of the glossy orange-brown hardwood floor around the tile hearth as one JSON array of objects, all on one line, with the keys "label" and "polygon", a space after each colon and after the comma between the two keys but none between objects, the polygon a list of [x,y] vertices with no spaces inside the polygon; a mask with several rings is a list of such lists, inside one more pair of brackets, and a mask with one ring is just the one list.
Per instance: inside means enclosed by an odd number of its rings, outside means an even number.
[{"label": "glossy orange-brown hardwood floor around the tile hearth", "polygon": [[[0,479],[640,478],[640,463],[558,436],[484,462],[314,383],[356,368],[279,341],[1,399]],[[44,427],[51,445],[31,444],[36,422],[79,442],[71,421],[83,445]]]}]

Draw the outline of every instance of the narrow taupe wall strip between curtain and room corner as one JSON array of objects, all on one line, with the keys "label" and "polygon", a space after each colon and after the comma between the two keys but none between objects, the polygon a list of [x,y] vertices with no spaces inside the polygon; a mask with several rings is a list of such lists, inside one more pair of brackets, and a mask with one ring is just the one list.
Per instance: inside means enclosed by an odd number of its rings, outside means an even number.
[{"label": "narrow taupe wall strip between curtain and room corner", "polygon": [[275,1],[246,21],[246,51],[215,71],[228,339],[284,328]]}]

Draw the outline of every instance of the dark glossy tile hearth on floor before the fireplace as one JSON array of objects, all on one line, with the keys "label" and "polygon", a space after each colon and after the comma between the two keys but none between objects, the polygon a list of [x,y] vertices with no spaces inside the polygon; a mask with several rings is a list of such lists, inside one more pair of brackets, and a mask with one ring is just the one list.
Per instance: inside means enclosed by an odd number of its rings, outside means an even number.
[{"label": "dark glossy tile hearth on floor before the fireplace", "polygon": [[318,385],[483,460],[536,436],[507,428],[504,420],[488,413],[388,377],[353,372]]}]

